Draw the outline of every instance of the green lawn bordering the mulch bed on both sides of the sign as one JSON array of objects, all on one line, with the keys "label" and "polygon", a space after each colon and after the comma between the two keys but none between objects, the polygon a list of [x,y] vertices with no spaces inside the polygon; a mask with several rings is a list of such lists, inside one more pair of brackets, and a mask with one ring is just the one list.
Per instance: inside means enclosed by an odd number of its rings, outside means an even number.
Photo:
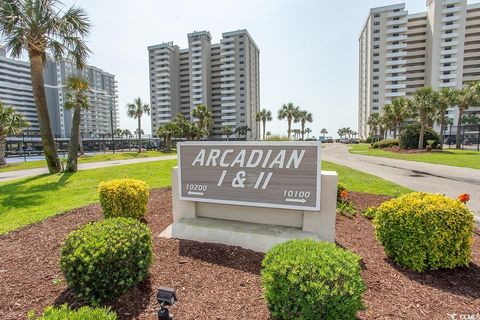
[{"label": "green lawn bordering the mulch bed on both sides of the sign", "polygon": [[[79,171],[75,174],[44,174],[0,183],[0,234],[44,220],[62,212],[98,201],[100,181],[136,178],[150,187],[170,185],[176,160],[113,166]],[[397,195],[410,190],[394,183],[333,163],[323,162],[322,170],[338,172],[348,190]]]}]

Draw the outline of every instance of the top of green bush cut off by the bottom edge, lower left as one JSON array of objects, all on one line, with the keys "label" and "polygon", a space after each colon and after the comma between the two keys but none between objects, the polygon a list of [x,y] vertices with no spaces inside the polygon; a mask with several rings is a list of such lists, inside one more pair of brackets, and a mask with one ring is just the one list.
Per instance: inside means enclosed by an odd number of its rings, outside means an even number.
[{"label": "top of green bush cut off by the bottom edge, lower left", "polygon": [[71,310],[66,304],[60,307],[49,306],[43,314],[36,318],[29,315],[29,320],[117,320],[117,314],[110,311],[110,308],[81,307],[78,310]]}]

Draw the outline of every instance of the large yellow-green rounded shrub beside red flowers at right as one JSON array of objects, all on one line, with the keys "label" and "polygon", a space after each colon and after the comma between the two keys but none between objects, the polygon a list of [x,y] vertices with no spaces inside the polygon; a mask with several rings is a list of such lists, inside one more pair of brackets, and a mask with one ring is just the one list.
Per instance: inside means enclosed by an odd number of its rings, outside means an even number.
[{"label": "large yellow-green rounded shrub beside red flowers at right", "polygon": [[408,269],[451,269],[470,262],[473,214],[458,200],[409,193],[384,202],[373,223],[387,256]]}]

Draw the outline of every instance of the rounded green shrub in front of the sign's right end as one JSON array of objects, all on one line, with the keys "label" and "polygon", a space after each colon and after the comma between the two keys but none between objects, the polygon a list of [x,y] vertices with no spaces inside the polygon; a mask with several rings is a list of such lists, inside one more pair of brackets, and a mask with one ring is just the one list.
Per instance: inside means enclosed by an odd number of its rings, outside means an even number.
[{"label": "rounded green shrub in front of the sign's right end", "polygon": [[270,249],[262,283],[274,319],[356,319],[365,284],[360,257],[333,243],[290,240]]}]

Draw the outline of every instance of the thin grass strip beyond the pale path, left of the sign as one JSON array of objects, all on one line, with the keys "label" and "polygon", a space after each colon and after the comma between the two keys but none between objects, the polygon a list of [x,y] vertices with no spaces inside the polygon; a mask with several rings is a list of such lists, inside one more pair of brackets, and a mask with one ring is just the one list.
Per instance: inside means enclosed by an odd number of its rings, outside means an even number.
[{"label": "thin grass strip beyond the pale path, left of the sign", "polygon": [[[128,152],[117,152],[115,154],[99,153],[93,156],[90,156],[90,155],[82,156],[79,158],[79,163],[111,161],[111,160],[127,160],[127,159],[136,159],[136,158],[151,158],[151,157],[160,157],[160,156],[166,156],[171,154],[176,154],[176,152],[175,151],[173,152],[144,151],[142,153],[138,153],[136,151],[131,151],[131,152],[128,151]],[[64,158],[62,158],[61,160],[66,161],[66,159]],[[24,170],[24,169],[35,169],[35,168],[43,168],[43,167],[46,167],[45,160],[16,162],[16,163],[7,164],[5,167],[0,167],[0,172]]]}]

